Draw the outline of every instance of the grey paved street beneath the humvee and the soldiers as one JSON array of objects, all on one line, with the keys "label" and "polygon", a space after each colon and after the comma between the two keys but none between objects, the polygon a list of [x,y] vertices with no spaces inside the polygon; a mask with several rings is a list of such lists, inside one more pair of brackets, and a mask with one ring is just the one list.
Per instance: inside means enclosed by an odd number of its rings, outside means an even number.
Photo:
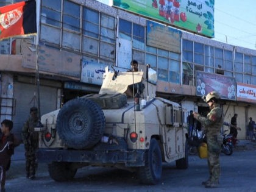
[{"label": "grey paved street beneath the humvee and the soldiers", "polygon": [[187,170],[176,169],[175,163],[163,164],[159,185],[140,185],[136,174],[115,168],[86,167],[79,169],[73,182],[54,182],[46,164],[39,164],[37,178],[25,177],[23,145],[15,149],[10,171],[7,172],[6,191],[256,191],[256,143],[240,141],[231,156],[221,154],[220,187],[205,189],[201,182],[208,177],[207,161],[190,155]]}]

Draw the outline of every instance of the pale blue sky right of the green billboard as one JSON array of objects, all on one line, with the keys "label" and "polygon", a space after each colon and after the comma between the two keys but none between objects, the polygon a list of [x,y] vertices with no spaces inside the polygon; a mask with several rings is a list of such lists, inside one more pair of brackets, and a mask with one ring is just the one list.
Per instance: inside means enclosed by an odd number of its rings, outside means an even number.
[{"label": "pale blue sky right of the green billboard", "polygon": [[215,0],[215,38],[256,50],[255,0]]}]

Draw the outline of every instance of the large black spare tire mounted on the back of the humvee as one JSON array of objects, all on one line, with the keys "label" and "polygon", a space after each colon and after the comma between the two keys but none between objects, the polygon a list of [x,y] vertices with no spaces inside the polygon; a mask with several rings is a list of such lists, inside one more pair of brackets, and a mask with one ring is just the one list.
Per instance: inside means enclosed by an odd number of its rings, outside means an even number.
[{"label": "large black spare tire mounted on the back of the humvee", "polygon": [[72,99],[60,109],[56,127],[59,137],[69,148],[91,148],[101,140],[105,116],[95,102],[84,98]]}]

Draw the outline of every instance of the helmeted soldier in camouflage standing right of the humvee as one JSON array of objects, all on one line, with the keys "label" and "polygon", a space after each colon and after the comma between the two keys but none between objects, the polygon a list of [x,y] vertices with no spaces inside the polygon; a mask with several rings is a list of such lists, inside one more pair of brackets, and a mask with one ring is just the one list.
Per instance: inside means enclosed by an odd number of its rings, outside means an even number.
[{"label": "helmeted soldier in camouflage standing right of the humvee", "polygon": [[219,153],[221,151],[222,138],[220,135],[221,127],[223,124],[224,116],[222,109],[218,104],[219,94],[216,91],[212,91],[207,94],[204,101],[210,107],[210,113],[207,117],[203,117],[198,113],[193,113],[194,118],[204,124],[205,133],[207,135],[208,146],[208,169],[210,172],[210,178],[202,182],[205,188],[215,188],[219,185],[220,165],[219,165]]}]

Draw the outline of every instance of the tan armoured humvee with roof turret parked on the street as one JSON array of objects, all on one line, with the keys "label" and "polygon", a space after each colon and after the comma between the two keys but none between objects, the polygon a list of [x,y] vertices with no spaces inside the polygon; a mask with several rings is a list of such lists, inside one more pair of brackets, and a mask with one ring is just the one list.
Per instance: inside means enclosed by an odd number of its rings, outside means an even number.
[{"label": "tan armoured humvee with roof turret parked on the street", "polygon": [[155,185],[163,162],[188,168],[186,110],[155,97],[156,73],[148,71],[105,69],[99,94],[41,116],[37,158],[49,163],[53,180],[71,180],[83,166],[112,166],[136,171],[141,183]]}]

